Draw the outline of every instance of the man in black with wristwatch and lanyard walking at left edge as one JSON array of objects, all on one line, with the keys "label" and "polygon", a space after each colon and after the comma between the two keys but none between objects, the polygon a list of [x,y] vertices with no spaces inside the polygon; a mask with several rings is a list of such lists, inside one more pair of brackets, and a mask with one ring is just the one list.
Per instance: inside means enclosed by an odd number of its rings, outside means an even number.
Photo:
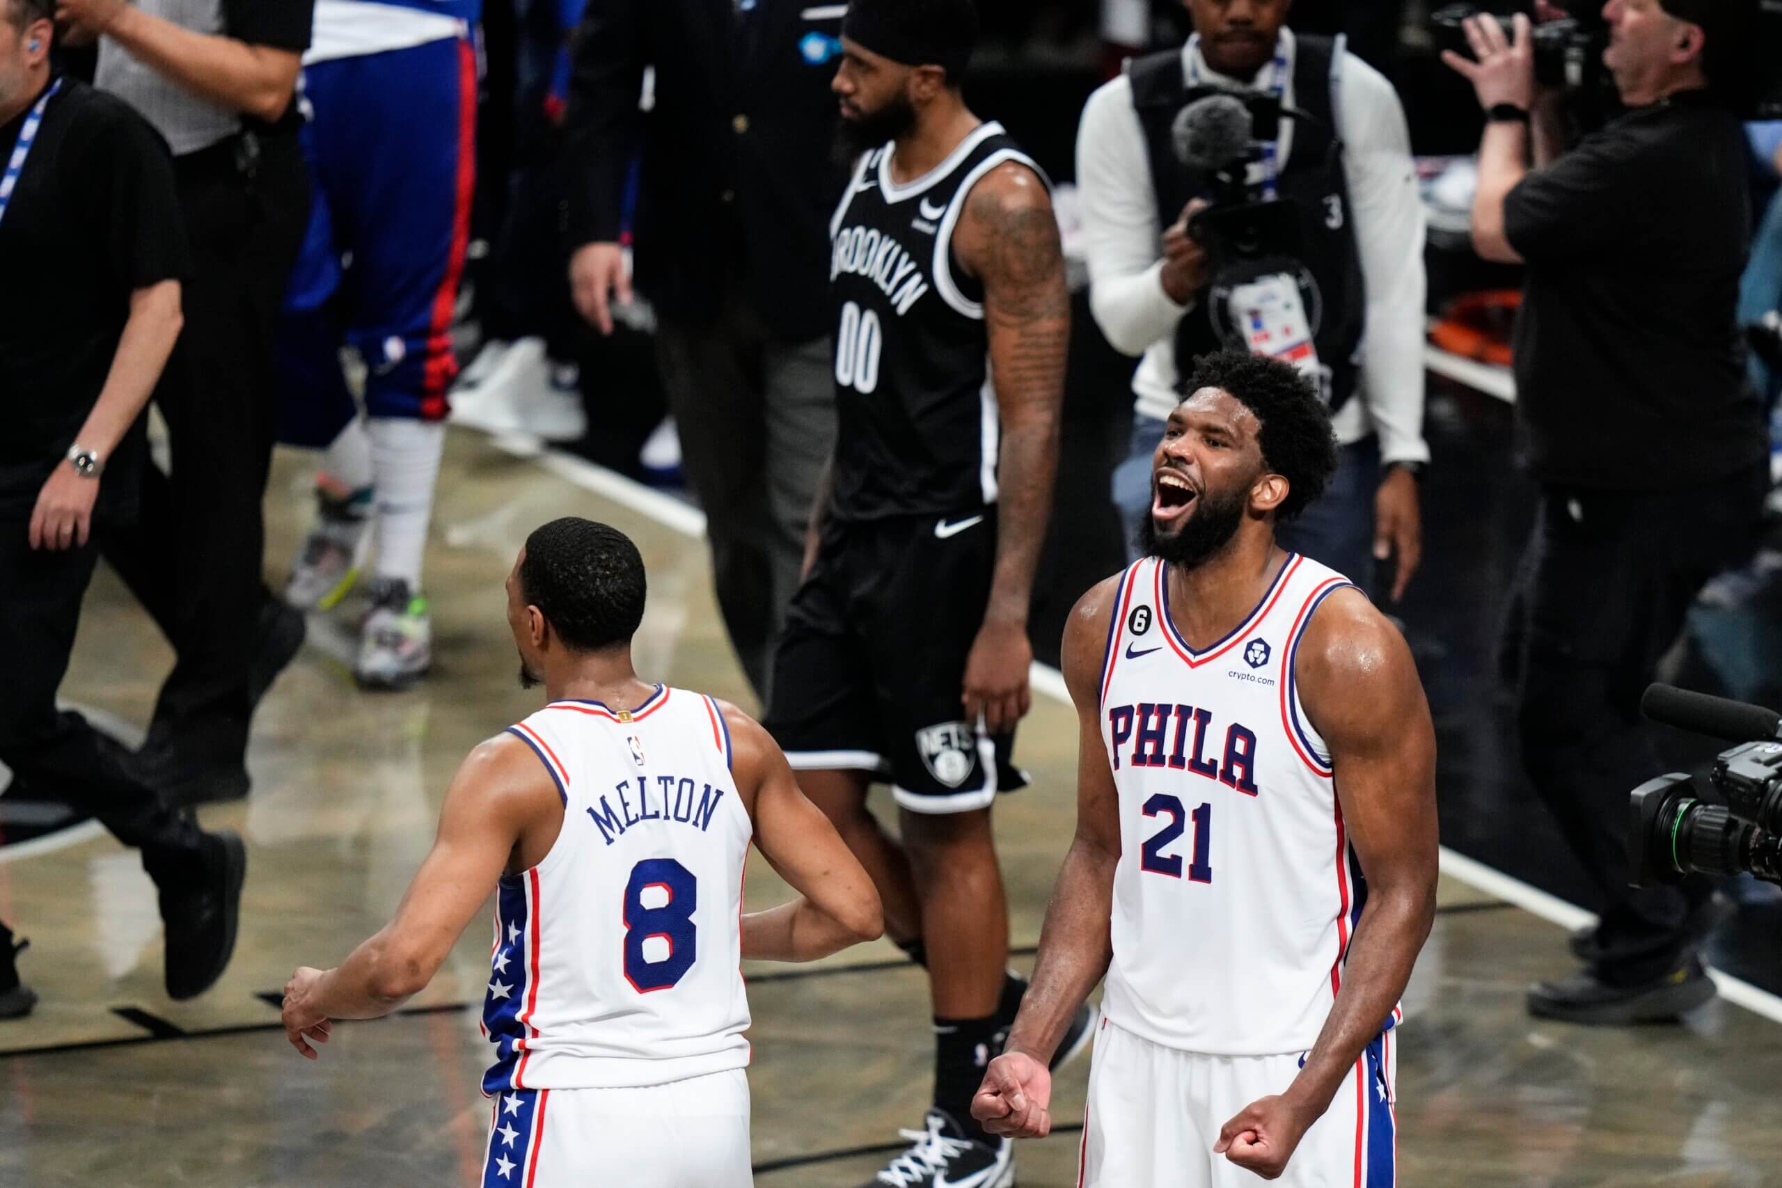
[{"label": "man in black with wristwatch and lanyard walking at left edge", "polygon": [[[180,335],[191,258],[166,144],[119,100],[52,75],[53,34],[48,0],[0,0],[0,762],[143,851],[168,996],[185,999],[235,948],[242,842],[162,803],[55,693],[94,531],[135,511],[141,413]],[[0,1017],[36,1003],[14,953],[0,924]]]}]

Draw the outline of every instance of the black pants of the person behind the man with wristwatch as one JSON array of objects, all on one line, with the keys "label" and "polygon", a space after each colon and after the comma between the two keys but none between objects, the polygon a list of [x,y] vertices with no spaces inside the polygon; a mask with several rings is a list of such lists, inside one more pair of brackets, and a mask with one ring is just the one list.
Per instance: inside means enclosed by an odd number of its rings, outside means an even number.
[{"label": "black pants of the person behind the man with wristwatch", "polygon": [[294,137],[267,137],[249,178],[235,142],[176,162],[192,246],[185,330],[155,390],[171,474],[143,468],[141,518],[103,533],[105,559],[173,645],[150,743],[178,739],[203,764],[248,748],[248,673],[260,613],[273,458],[273,328],[303,242],[310,183]]}]

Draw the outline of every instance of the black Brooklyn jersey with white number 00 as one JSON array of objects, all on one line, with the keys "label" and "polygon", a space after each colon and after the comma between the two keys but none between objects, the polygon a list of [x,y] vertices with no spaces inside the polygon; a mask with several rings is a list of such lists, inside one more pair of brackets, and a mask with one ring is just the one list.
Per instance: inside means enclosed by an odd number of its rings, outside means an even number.
[{"label": "black Brooklyn jersey with white number 00", "polygon": [[998,123],[980,125],[907,185],[891,180],[889,144],[854,171],[829,224],[839,310],[836,520],[996,502],[984,289],[959,267],[952,239],[971,187],[1009,160],[1044,178]]}]

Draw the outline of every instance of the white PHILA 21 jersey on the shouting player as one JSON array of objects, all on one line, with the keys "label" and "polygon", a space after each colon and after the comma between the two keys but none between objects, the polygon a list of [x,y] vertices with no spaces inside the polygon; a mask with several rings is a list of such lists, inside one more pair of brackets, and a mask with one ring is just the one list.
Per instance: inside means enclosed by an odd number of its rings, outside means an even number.
[{"label": "white PHILA 21 jersey on the shouting player", "polygon": [[1121,832],[1103,1010],[1190,1053],[1304,1053],[1367,883],[1294,657],[1319,604],[1351,582],[1288,554],[1244,623],[1196,652],[1165,581],[1153,557],[1121,575],[1101,666]]}]

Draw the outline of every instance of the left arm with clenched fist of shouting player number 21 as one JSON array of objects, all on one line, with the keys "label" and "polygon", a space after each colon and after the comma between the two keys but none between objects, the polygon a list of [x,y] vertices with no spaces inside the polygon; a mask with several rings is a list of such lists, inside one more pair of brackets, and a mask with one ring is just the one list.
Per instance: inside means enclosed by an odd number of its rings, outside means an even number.
[{"label": "left arm with clenched fist of shouting player number 21", "polygon": [[1076,704],[1076,835],[1039,933],[1034,981],[1021,999],[1005,1056],[991,1065],[971,1113],[994,1135],[1044,1138],[1051,1078],[1046,1065],[1071,1017],[1114,960],[1114,867],[1119,794],[1101,743],[1101,659],[1119,579],[1085,593],[1064,627],[1064,679]]}]

